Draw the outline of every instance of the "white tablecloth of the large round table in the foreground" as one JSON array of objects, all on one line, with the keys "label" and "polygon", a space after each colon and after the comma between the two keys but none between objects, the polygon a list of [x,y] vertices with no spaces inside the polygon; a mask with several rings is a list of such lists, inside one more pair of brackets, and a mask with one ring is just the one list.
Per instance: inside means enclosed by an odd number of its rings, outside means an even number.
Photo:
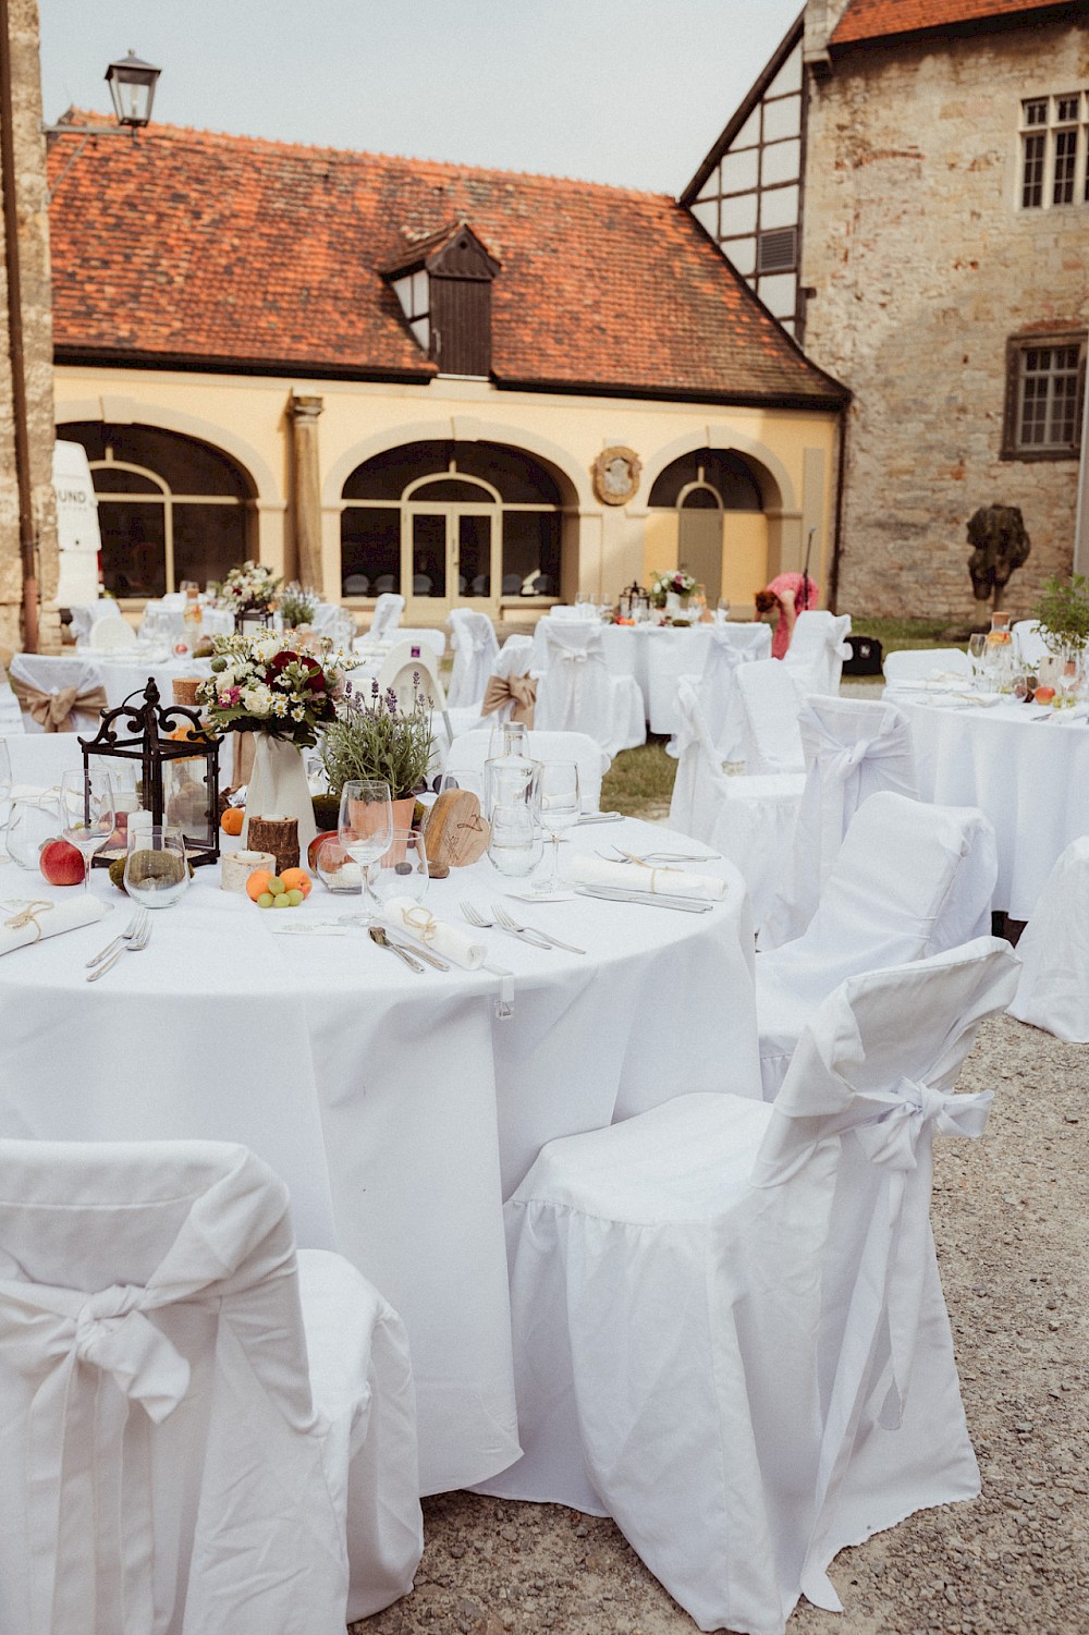
[{"label": "white tablecloth of the large round table in the foreground", "polygon": [[[633,821],[571,840],[700,850]],[[406,1321],[420,1491],[482,1481],[520,1452],[502,1200],[540,1146],[688,1091],[760,1095],[749,903],[729,863],[701,868],[728,881],[706,914],[512,901],[587,953],[474,932],[513,973],[505,1020],[500,976],[417,976],[342,925],[358,896],[316,883],[265,912],[216,868],[88,984],[129,912],[96,870],[106,919],[0,958],[0,1135],[250,1146],[288,1182],[299,1243],[338,1249]],[[487,911],[518,885],[482,858],[427,906],[464,925],[459,901]],[[75,889],[0,868],[3,904]]]}]

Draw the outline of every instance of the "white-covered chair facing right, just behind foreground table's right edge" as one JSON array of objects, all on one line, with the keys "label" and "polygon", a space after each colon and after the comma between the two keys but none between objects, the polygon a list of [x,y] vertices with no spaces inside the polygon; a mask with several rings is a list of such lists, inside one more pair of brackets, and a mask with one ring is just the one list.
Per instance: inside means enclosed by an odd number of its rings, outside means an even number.
[{"label": "white-covered chair facing right, just behind foreground table's right edge", "polygon": [[804,778],[800,772],[726,777],[692,682],[677,683],[679,764],[669,827],[728,857],[744,876],[759,929],[791,867]]}]

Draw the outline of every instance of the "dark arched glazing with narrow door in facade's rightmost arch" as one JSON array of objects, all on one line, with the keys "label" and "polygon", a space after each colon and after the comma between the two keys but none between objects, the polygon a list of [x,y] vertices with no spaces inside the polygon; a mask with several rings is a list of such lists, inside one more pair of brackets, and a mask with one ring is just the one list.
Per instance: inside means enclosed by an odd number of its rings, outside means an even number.
[{"label": "dark arched glazing with narrow door in facade's rightmost arch", "polygon": [[726,448],[697,448],[670,461],[651,489],[651,505],[677,512],[677,561],[710,602],[723,594],[724,512],[760,512],[752,468]]}]

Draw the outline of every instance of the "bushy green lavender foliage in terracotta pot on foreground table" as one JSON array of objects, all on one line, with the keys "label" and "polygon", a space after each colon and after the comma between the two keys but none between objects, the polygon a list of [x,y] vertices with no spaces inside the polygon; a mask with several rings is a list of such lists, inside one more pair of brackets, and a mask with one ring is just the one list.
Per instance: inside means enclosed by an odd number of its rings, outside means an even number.
[{"label": "bushy green lavender foliage in terracotta pot on foreground table", "polygon": [[322,764],[329,793],[340,796],[350,778],[381,778],[392,800],[404,800],[427,783],[432,762],[432,711],[420,693],[412,710],[401,710],[392,690],[379,693],[373,682],[370,701],[348,695],[337,706],[337,719],[325,728]]}]

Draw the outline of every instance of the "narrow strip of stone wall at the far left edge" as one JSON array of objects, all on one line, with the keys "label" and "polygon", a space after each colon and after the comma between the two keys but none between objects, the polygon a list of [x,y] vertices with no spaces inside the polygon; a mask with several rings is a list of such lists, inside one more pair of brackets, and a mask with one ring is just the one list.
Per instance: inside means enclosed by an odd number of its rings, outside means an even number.
[{"label": "narrow strip of stone wall at the far left edge", "polygon": [[[41,134],[41,72],[36,0],[8,0],[15,137],[23,361],[28,401],[29,474],[39,544],[39,647],[59,646],[56,610],[57,530],[52,494],[52,322],[49,309],[49,204],[46,141]],[[0,51],[5,43],[0,41]],[[7,134],[7,132],[5,132]],[[23,567],[15,477],[15,420],[8,334],[8,286],[0,255],[0,647],[23,646]]]}]

